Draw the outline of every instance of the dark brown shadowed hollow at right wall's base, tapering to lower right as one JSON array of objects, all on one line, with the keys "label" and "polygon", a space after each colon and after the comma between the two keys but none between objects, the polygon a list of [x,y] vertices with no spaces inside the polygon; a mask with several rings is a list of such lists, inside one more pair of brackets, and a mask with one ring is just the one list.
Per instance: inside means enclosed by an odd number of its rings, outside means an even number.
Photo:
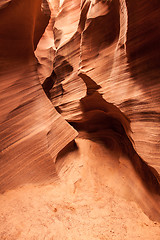
[{"label": "dark brown shadowed hollow at right wall's base, tapering to lower right", "polygon": [[87,86],[87,95],[81,99],[82,119],[69,123],[80,132],[80,137],[100,141],[107,148],[126,155],[143,185],[160,195],[160,176],[135,151],[130,137],[130,120],[115,105],[108,103],[97,92],[97,85],[90,77],[79,74]]}]

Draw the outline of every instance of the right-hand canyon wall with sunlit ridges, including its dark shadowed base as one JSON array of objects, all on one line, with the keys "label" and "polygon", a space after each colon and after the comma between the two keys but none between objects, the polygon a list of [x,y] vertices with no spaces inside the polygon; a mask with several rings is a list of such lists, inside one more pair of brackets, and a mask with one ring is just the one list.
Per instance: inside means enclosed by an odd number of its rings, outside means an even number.
[{"label": "right-hand canyon wall with sunlit ridges, including its dark shadowed base", "polygon": [[159,2],[64,0],[50,7],[35,52],[48,98],[79,137],[127,155],[159,194]]}]

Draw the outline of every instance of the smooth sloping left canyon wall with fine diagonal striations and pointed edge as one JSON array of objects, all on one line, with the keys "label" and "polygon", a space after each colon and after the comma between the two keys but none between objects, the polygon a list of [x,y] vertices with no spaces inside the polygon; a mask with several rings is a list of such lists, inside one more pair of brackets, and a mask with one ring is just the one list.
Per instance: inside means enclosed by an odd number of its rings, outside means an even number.
[{"label": "smooth sloping left canyon wall with fine diagonal striations and pointed edge", "polygon": [[41,1],[12,1],[0,10],[0,19],[3,192],[24,183],[53,179],[56,155],[77,134],[54,109],[38,79],[34,48],[49,21],[41,11]]}]

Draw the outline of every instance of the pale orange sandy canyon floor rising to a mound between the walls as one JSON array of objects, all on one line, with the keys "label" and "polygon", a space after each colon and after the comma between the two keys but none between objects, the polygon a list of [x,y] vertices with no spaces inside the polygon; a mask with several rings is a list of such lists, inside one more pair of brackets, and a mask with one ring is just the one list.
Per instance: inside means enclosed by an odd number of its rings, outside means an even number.
[{"label": "pale orange sandy canyon floor rising to a mound between the walls", "polygon": [[53,183],[0,195],[0,239],[159,240],[160,224],[134,201],[147,195],[127,159],[90,140],[76,143],[57,160]]}]

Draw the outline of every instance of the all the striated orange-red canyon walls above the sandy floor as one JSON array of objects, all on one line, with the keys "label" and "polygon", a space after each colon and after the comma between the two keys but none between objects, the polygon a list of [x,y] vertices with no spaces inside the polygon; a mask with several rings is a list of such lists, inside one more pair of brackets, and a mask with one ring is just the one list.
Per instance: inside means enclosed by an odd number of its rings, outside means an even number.
[{"label": "all the striated orange-red canyon walls above the sandy floor", "polygon": [[58,178],[56,156],[80,132],[126,154],[159,192],[159,9],[158,0],[2,3],[2,191]]}]

